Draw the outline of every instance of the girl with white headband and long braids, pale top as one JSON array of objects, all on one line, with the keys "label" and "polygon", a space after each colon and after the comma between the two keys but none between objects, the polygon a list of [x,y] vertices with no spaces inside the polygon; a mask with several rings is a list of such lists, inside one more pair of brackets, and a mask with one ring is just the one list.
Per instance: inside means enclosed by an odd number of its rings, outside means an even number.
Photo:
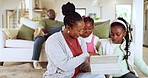
[{"label": "girl with white headband and long braids, pale top", "polygon": [[110,39],[101,41],[100,55],[118,55],[121,71],[113,74],[113,78],[137,78],[134,65],[148,76],[148,67],[135,51],[134,44],[130,41],[128,23],[123,18],[118,18],[111,23]]}]

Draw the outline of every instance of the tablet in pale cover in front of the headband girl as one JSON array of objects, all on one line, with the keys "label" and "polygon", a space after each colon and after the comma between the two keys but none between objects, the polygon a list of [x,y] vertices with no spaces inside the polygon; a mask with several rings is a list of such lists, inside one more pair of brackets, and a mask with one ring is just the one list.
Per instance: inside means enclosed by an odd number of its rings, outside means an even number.
[{"label": "tablet in pale cover in front of the headband girl", "polygon": [[115,74],[121,71],[118,56],[101,55],[90,57],[91,74]]}]

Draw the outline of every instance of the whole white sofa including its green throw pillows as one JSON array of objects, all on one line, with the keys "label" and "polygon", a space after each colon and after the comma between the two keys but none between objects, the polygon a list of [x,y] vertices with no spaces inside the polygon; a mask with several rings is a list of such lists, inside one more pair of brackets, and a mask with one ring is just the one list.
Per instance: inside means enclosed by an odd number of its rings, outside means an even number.
[{"label": "whole white sofa including its green throw pillows", "polygon": [[[32,38],[34,29],[39,23],[26,18],[21,18],[20,23],[20,26],[15,29],[0,29],[0,62],[33,62],[31,60],[34,45]],[[94,34],[100,39],[108,38],[109,23],[109,20],[95,21]],[[45,44],[43,44],[39,61],[47,62]]]}]

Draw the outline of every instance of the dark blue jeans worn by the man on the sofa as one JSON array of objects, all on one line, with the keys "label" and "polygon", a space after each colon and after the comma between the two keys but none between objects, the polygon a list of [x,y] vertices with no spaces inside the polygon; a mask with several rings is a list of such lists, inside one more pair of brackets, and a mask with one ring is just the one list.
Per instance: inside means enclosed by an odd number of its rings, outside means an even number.
[{"label": "dark blue jeans worn by the man on the sofa", "polygon": [[34,40],[34,47],[33,47],[33,56],[32,60],[39,60],[41,49],[43,43],[47,40],[47,38],[55,32],[62,30],[62,26],[55,26],[51,29],[48,29],[47,35],[44,36],[37,36]]}]

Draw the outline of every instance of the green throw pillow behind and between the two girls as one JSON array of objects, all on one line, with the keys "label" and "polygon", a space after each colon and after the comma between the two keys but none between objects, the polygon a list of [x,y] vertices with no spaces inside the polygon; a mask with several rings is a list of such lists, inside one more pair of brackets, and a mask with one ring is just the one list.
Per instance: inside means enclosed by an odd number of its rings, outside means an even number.
[{"label": "green throw pillow behind and between the two girls", "polygon": [[93,34],[98,36],[100,39],[109,38],[109,23],[109,20],[101,23],[96,23],[94,26]]}]

